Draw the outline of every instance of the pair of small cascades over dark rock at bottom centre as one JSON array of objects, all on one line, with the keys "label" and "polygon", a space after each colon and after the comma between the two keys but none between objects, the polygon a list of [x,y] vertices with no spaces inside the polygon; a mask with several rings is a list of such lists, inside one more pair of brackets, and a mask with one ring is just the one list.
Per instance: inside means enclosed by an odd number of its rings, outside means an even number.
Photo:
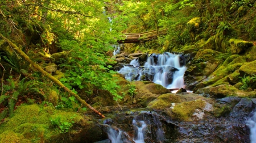
[{"label": "pair of small cascades over dark rock at bottom centre", "polygon": [[112,119],[106,119],[104,121],[104,128],[108,133],[109,139],[112,140],[112,143],[164,141],[162,123],[156,112],[140,111],[137,112],[136,115],[131,114],[131,116],[133,116],[133,119],[132,125],[129,125],[129,129],[122,128],[122,124],[124,123],[121,123],[121,121],[115,122]]}]

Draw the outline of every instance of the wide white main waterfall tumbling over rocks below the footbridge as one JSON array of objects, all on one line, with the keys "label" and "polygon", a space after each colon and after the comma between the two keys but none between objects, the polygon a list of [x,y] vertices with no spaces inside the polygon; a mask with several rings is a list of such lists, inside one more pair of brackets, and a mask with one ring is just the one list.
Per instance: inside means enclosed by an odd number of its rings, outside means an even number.
[{"label": "wide white main waterfall tumbling over rocks below the footbridge", "polygon": [[180,89],[184,87],[183,75],[187,69],[180,65],[180,55],[169,52],[163,54],[151,54],[147,57],[143,67],[139,67],[138,58],[130,62],[130,65],[124,66],[118,73],[125,75],[125,78],[131,80],[148,80],[158,83],[167,89]]}]

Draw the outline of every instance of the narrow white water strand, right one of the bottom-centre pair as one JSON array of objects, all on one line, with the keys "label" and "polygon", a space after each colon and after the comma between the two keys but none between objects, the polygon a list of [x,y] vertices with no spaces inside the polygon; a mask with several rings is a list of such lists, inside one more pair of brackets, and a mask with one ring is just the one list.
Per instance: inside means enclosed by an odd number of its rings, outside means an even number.
[{"label": "narrow white water strand, right one of the bottom-centre pair", "polygon": [[138,121],[138,123],[133,120],[133,125],[137,129],[137,138],[134,138],[134,141],[135,143],[144,143],[143,129],[147,127],[147,124],[144,121]]}]

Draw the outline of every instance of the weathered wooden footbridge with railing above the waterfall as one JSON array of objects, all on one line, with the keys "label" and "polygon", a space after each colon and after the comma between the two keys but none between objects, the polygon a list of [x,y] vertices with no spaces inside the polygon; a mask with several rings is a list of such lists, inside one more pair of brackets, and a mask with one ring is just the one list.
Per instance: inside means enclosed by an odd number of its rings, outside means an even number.
[{"label": "weathered wooden footbridge with railing above the waterfall", "polygon": [[117,42],[119,44],[122,43],[139,43],[140,41],[147,41],[150,39],[153,39],[154,37],[157,37],[158,35],[164,35],[167,34],[168,29],[159,30],[156,32],[156,30],[142,32],[142,33],[125,33],[124,40],[118,40]]}]

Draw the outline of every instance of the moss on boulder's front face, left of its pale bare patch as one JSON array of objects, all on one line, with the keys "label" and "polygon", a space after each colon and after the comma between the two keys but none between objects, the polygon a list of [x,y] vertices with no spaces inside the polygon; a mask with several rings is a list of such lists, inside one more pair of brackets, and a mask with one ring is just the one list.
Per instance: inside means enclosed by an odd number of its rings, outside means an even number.
[{"label": "moss on boulder's front face, left of its pale bare patch", "polygon": [[172,110],[172,117],[180,121],[189,121],[196,109],[201,109],[205,107],[204,100],[193,100],[190,102],[182,102],[176,104]]}]

